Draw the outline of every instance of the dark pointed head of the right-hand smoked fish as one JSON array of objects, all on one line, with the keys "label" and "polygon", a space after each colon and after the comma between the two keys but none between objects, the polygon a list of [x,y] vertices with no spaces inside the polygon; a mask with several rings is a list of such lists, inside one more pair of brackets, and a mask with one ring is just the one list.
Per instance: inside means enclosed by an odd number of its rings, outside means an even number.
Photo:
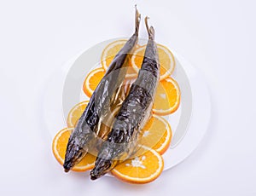
[{"label": "dark pointed head of the right-hand smoked fish", "polygon": [[109,159],[96,159],[96,166],[90,171],[90,180],[96,180],[101,176],[104,176],[112,168],[112,160]]}]

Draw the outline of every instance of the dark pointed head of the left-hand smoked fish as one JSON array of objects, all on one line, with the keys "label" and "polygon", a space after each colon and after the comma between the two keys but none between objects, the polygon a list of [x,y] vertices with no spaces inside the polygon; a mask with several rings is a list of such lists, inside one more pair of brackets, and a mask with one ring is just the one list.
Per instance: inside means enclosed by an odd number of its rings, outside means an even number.
[{"label": "dark pointed head of the left-hand smoked fish", "polygon": [[87,151],[86,148],[80,147],[76,141],[68,141],[65,161],[63,164],[65,172],[71,170],[75,164],[78,164],[81,159],[84,158]]}]

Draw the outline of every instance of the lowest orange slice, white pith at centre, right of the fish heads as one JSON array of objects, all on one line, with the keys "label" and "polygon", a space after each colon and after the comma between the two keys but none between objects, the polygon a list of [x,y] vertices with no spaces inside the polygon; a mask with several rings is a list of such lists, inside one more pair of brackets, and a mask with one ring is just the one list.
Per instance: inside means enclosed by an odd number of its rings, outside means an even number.
[{"label": "lowest orange slice, white pith at centre, right of the fish heads", "polygon": [[164,161],[155,150],[141,146],[146,153],[118,164],[111,171],[122,181],[143,184],[154,181],[164,168]]}]

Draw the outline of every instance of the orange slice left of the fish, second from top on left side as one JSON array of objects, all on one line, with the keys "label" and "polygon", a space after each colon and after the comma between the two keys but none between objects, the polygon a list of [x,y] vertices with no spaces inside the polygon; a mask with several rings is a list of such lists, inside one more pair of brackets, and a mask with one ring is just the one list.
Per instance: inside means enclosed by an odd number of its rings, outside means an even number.
[{"label": "orange slice left of the fish, second from top on left side", "polygon": [[91,96],[96,89],[97,85],[101,82],[103,76],[105,75],[105,70],[100,68],[96,68],[92,70],[86,78],[84,79],[83,90],[85,95]]}]

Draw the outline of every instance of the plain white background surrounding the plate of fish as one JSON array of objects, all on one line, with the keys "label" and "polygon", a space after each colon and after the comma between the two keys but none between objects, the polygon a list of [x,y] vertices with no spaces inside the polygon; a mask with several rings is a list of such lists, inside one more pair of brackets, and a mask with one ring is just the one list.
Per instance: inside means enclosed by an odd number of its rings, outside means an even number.
[{"label": "plain white background surrounding the plate of fish", "polygon": [[[82,49],[130,36],[135,3],[156,41],[205,75],[207,134],[189,159],[147,185],[65,174],[40,121],[44,84]],[[1,0],[0,194],[256,195],[255,7],[253,0]]]}]

